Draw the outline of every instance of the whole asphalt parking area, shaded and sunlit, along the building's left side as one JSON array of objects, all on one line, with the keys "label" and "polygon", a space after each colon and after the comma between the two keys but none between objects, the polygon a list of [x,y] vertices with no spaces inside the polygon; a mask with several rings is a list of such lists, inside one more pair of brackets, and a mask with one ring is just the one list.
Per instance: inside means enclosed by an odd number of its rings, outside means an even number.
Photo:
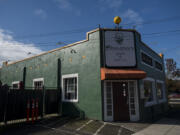
[{"label": "whole asphalt parking area, shaded and sunlit, along the building's left side", "polygon": [[0,130],[1,135],[131,135],[120,125],[96,120],[56,117],[35,124],[15,124]]}]

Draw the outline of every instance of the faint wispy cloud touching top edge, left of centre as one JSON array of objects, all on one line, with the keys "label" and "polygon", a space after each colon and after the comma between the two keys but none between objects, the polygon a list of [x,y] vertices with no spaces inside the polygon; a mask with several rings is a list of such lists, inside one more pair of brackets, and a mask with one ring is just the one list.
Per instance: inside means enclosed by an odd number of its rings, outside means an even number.
[{"label": "faint wispy cloud touching top edge, left of centre", "polygon": [[79,10],[74,5],[72,5],[70,0],[54,0],[54,2],[57,4],[59,9],[61,9],[63,11],[70,11],[70,12],[74,13],[76,16],[81,15],[81,10]]}]

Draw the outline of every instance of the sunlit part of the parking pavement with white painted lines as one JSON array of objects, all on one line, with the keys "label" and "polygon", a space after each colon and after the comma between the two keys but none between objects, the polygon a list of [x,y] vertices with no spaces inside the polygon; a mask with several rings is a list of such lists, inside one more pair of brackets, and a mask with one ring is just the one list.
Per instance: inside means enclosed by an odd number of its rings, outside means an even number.
[{"label": "sunlit part of the parking pavement with white painted lines", "polygon": [[[39,126],[76,135],[131,135],[134,133],[133,131],[122,128],[119,125],[108,124],[106,122],[96,120],[72,119],[62,126],[58,126],[57,122],[56,126],[54,126],[54,123],[55,122]],[[46,127],[47,125],[48,127]]]}]

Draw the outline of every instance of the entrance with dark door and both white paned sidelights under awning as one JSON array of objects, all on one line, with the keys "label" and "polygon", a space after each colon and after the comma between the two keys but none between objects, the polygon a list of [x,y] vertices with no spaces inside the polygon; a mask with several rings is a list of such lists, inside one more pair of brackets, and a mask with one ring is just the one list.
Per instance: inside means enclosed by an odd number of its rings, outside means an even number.
[{"label": "entrance with dark door and both white paned sidelights under awning", "polygon": [[104,82],[104,120],[139,120],[136,80],[106,80]]}]

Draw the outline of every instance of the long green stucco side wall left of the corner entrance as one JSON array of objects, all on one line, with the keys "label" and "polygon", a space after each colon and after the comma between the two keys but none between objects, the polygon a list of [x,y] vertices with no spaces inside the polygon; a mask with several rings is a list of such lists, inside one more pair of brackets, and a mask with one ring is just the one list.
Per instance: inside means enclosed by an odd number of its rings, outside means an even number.
[{"label": "long green stucco side wall left of the corner entrance", "polygon": [[[60,68],[58,59],[61,60]],[[3,66],[2,82],[11,86],[13,81],[22,81],[24,67],[26,67],[25,87],[32,87],[35,78],[44,78],[46,88],[57,88],[60,81],[59,71],[61,75],[78,73],[79,101],[63,102],[62,114],[83,114],[88,118],[102,119],[99,31],[89,34],[89,41]]]}]

